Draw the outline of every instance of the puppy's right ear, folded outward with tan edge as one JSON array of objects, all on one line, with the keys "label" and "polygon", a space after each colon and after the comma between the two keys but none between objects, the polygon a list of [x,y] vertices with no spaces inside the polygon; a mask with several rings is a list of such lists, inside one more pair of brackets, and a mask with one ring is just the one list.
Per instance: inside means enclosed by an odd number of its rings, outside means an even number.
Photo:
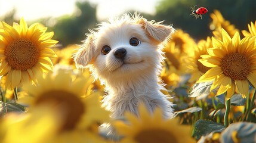
[{"label": "puppy's right ear, folded outward with tan edge", "polygon": [[156,23],[155,21],[147,21],[145,18],[138,18],[137,23],[147,31],[149,36],[158,42],[163,42],[166,38],[174,32],[172,26],[167,26],[161,22]]}]

